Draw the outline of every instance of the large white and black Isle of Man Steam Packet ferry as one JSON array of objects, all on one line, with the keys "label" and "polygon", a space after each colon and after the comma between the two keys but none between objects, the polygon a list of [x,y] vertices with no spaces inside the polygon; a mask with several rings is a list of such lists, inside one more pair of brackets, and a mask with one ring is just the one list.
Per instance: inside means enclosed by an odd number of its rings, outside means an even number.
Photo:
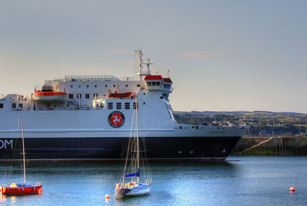
[{"label": "large white and black Isle of Man Steam Packet ferry", "polygon": [[65,76],[45,81],[28,96],[3,95],[0,161],[21,161],[16,155],[21,149],[20,116],[27,161],[125,161],[136,107],[149,161],[225,160],[247,128],[177,123],[169,101],[173,92],[169,74],[151,75],[153,63],[150,59],[143,63],[142,50],[135,52],[136,78]]}]

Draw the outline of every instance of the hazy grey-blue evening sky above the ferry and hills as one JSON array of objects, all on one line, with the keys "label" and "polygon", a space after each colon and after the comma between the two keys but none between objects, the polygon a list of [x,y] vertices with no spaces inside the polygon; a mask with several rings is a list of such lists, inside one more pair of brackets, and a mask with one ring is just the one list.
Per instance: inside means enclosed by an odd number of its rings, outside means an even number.
[{"label": "hazy grey-blue evening sky above the ferry and hills", "polygon": [[0,94],[65,75],[169,76],[174,111],[307,113],[305,0],[0,0]]}]

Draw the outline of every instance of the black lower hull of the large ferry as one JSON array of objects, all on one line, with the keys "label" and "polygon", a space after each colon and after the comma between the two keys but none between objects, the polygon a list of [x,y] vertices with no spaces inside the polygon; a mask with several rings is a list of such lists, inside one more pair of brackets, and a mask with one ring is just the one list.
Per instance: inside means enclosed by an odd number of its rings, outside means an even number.
[{"label": "black lower hull of the large ferry", "polygon": [[[146,159],[223,161],[240,138],[146,137]],[[25,138],[26,159],[29,162],[125,161],[128,141],[129,137]],[[21,161],[21,151],[20,138],[0,140],[0,162]]]}]

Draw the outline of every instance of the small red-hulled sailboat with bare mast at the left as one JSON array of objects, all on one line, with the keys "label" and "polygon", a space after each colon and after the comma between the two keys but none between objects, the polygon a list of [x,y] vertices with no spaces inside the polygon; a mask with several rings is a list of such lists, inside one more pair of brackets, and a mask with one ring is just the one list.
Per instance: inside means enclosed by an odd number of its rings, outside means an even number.
[{"label": "small red-hulled sailboat with bare mast at the left", "polygon": [[[17,180],[24,180],[24,183],[12,183],[9,180],[9,183],[1,183],[0,184],[0,194],[1,195],[19,195],[19,194],[31,194],[31,193],[41,193],[43,189],[41,188],[41,182],[37,182],[36,185],[26,184],[25,182],[25,143],[23,138],[23,125],[22,125],[22,117],[21,117],[21,131],[22,131],[22,145],[23,145],[23,168],[24,168],[24,178]],[[10,183],[11,182],[11,183]]]}]

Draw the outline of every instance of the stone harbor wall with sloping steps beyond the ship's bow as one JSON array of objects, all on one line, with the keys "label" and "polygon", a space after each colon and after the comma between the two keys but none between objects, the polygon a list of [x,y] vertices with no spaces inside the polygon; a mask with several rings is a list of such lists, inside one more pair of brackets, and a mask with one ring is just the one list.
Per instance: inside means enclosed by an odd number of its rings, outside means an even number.
[{"label": "stone harbor wall with sloping steps beyond the ship's bow", "polygon": [[233,155],[307,155],[305,137],[242,137]]}]

